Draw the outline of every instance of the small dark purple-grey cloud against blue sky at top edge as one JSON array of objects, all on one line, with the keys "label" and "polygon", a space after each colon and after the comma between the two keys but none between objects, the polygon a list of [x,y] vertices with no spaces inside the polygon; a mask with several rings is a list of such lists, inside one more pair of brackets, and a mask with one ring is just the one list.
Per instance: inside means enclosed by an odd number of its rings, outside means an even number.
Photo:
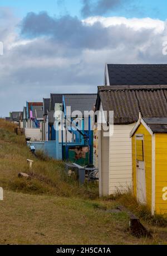
[{"label": "small dark purple-grey cloud against blue sky at top edge", "polygon": [[123,7],[130,0],[83,0],[81,14],[84,17],[104,15],[105,13],[115,10],[117,7]]}]

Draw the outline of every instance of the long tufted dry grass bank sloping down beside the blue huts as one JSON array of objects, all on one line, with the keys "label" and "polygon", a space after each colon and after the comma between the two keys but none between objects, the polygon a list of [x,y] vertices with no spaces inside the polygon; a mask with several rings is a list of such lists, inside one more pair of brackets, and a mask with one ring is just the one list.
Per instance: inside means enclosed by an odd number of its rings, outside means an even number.
[{"label": "long tufted dry grass bank sloping down beside the blue huts", "polygon": [[[97,186],[79,186],[77,181],[68,178],[62,162],[46,159],[42,154],[39,158],[32,155],[26,146],[24,136],[14,134],[13,130],[12,124],[0,120],[0,181],[3,188],[15,192],[66,197],[98,196]],[[27,159],[34,161],[31,170]],[[19,172],[30,174],[31,179],[18,178]]]}]

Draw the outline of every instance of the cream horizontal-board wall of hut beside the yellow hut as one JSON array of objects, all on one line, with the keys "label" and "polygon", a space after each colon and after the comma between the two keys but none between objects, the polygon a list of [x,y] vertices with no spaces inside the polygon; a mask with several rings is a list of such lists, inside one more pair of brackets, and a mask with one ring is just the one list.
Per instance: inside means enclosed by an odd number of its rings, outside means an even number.
[{"label": "cream horizontal-board wall of hut beside the yellow hut", "polygon": [[114,125],[109,143],[109,195],[132,187],[130,131],[134,125]]}]

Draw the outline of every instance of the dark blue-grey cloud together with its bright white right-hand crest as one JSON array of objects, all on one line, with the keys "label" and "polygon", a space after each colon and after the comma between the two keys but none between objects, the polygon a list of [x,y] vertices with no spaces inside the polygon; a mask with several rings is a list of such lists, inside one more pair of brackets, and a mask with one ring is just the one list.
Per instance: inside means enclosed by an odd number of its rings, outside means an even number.
[{"label": "dark blue-grey cloud together with its bright white right-hand crest", "polygon": [[163,30],[164,22],[151,18],[90,17],[81,21],[77,17],[55,18],[41,12],[28,13],[22,22],[21,34],[29,39],[48,37],[56,44],[81,51],[111,49],[122,42],[129,44],[130,40],[137,46],[144,38],[149,39],[154,32]]}]

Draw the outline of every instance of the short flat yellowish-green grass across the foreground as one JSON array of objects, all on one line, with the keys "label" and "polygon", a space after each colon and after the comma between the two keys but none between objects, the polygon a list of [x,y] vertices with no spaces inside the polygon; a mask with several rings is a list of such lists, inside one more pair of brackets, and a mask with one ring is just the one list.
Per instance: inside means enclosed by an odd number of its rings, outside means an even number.
[{"label": "short flat yellowish-green grass across the foreground", "polygon": [[126,214],[109,214],[96,201],[5,191],[0,205],[0,244],[152,243],[130,235]]}]

